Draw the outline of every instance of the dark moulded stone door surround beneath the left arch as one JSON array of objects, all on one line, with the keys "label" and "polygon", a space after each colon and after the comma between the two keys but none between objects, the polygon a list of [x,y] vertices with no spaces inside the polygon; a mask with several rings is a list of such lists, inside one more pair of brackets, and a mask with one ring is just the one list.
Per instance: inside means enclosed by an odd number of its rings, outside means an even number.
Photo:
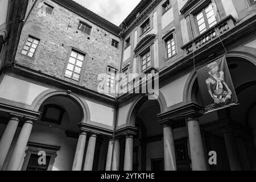
[{"label": "dark moulded stone door surround beneath the left arch", "polygon": [[[47,171],[52,171],[53,164],[55,162],[55,158],[57,157],[57,151],[60,150],[61,147],[59,146],[51,146],[48,144],[40,144],[40,143],[34,143],[34,142],[28,142],[27,143],[27,150],[26,150],[26,156],[24,158],[24,162],[22,164],[21,171],[26,171],[28,167],[28,163],[30,161],[30,156],[32,154],[38,155],[39,151],[45,151],[46,156],[50,156],[49,164]],[[38,156],[40,158],[40,156]]]}]

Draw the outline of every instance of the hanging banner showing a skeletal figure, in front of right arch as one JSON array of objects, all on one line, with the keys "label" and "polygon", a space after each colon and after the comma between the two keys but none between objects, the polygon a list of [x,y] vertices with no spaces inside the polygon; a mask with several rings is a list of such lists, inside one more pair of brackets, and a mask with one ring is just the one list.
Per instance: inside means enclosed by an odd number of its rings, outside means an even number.
[{"label": "hanging banner showing a skeletal figure, in front of right arch", "polygon": [[225,56],[196,72],[205,114],[238,104]]}]

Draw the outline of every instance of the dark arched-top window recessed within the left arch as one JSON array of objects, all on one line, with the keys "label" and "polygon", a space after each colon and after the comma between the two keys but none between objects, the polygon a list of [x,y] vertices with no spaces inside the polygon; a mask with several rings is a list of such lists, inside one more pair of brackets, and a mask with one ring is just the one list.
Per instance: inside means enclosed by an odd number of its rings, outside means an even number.
[{"label": "dark arched-top window recessed within the left arch", "polygon": [[43,107],[42,121],[61,125],[65,110],[54,104],[48,104]]}]

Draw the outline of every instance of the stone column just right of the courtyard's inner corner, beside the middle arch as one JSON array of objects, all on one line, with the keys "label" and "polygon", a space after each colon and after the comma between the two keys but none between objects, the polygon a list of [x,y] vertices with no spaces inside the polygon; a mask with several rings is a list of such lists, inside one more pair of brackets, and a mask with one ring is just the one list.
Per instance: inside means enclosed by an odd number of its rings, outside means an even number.
[{"label": "stone column just right of the courtyard's inner corner, beside the middle arch", "polygon": [[133,171],[133,136],[126,135],[124,171]]}]

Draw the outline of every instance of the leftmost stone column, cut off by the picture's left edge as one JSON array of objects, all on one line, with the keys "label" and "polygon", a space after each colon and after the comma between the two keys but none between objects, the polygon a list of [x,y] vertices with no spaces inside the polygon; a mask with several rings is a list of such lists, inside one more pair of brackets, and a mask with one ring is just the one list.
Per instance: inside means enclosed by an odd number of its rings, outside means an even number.
[{"label": "leftmost stone column, cut off by the picture's left edge", "polygon": [[3,163],[5,162],[6,156],[11,146],[11,142],[13,142],[18,124],[19,118],[11,118],[0,140],[0,170],[2,169]]}]

